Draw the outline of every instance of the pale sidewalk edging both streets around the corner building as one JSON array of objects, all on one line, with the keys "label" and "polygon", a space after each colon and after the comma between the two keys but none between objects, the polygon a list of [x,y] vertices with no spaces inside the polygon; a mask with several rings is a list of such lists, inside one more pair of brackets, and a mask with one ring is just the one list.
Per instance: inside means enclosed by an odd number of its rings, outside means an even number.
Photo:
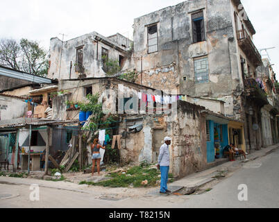
[{"label": "pale sidewalk edging both streets around the corner building", "polygon": [[[268,148],[262,148],[260,151],[255,151],[249,155],[247,155],[247,158],[249,161],[255,160],[258,157],[262,157],[264,155],[268,155],[276,148],[279,148],[279,144],[276,144],[274,146],[269,146]],[[248,161],[248,162],[249,162]],[[168,185],[169,189],[172,191],[172,193],[183,189],[183,188],[189,188],[189,189],[197,189],[198,187],[201,187],[208,182],[211,182],[212,180],[215,180],[217,176],[220,176],[224,171],[228,171],[232,173],[233,171],[236,171],[237,169],[244,166],[246,162],[244,160],[237,159],[234,162],[225,162],[223,164],[218,165],[217,167],[213,167],[211,169],[207,169],[205,171],[200,171],[198,173],[193,173],[192,175],[186,176],[185,178],[181,178],[180,180],[177,180],[175,182],[172,182]],[[215,178],[214,178],[215,177]],[[82,192],[86,194],[93,194],[96,196],[99,196],[101,194],[119,194],[124,195],[126,197],[135,197],[135,196],[144,196],[145,194],[153,194],[158,195],[158,187],[154,188],[110,188],[110,187],[92,187],[88,185],[78,185],[74,182],[66,182],[66,181],[48,181],[48,180],[37,180],[37,179],[31,179],[31,178],[10,178],[1,176],[0,177],[0,184],[15,184],[15,185],[32,185],[37,184],[40,187],[47,187],[47,188],[53,188],[53,189],[63,189],[67,191],[77,191]]]}]

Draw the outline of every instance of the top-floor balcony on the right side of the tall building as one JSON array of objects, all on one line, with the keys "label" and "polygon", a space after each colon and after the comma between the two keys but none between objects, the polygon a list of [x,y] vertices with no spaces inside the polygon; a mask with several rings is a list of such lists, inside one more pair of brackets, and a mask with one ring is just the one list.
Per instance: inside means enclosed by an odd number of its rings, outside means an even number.
[{"label": "top-floor balcony on the right side of the tall building", "polygon": [[246,30],[242,29],[237,31],[237,40],[240,49],[244,51],[248,60],[253,62],[255,67],[262,65],[262,56],[260,55],[259,51],[257,51],[256,46],[253,44],[253,41]]}]

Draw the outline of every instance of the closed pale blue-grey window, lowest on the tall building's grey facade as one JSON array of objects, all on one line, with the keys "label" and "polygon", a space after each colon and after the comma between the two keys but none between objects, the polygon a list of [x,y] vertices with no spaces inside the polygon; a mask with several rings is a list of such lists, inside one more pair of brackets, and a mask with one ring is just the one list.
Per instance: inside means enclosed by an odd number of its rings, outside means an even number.
[{"label": "closed pale blue-grey window, lowest on the tall building's grey facade", "polygon": [[194,60],[195,83],[208,82],[208,58]]}]

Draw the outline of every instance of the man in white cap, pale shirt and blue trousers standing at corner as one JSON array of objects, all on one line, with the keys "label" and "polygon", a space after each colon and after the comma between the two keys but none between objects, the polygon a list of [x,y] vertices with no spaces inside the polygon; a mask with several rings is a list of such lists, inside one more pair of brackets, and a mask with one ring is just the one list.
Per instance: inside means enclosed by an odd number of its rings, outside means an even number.
[{"label": "man in white cap, pale shirt and blue trousers standing at corner", "polygon": [[171,191],[167,189],[167,180],[169,176],[169,145],[171,144],[171,138],[165,137],[164,144],[160,148],[158,157],[157,168],[161,171],[161,187],[160,194],[169,194]]}]

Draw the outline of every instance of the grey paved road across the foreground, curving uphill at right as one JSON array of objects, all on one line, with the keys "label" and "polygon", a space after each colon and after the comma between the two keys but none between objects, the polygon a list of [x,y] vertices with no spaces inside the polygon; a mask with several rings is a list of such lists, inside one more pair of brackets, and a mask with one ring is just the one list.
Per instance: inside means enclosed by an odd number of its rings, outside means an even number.
[{"label": "grey paved road across the foreground, curving uphill at right", "polygon": [[[153,196],[105,200],[85,194],[40,187],[40,200],[31,201],[27,185],[0,184],[0,207],[279,207],[279,149],[244,164],[233,176],[221,180],[211,191],[190,196]],[[247,185],[248,200],[239,201],[238,186]],[[100,196],[99,196],[100,197]],[[4,199],[6,198],[6,199]]]}]

